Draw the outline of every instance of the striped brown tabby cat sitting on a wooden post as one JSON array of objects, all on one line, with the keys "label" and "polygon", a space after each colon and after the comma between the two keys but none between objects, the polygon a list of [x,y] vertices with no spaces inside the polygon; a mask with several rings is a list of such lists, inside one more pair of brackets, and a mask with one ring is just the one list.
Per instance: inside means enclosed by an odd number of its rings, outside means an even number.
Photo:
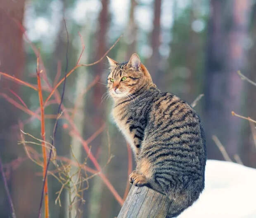
[{"label": "striped brown tabby cat sitting on a wooden post", "polygon": [[174,94],[161,92],[137,54],[123,63],[107,58],[112,115],[137,163],[129,181],[167,195],[167,217],[178,216],[204,189],[206,146],[199,116]]}]

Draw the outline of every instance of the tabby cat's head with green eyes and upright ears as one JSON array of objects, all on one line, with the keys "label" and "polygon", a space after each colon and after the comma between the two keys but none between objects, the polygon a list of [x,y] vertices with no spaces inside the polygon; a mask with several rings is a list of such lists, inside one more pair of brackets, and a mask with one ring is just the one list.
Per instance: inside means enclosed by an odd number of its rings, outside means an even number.
[{"label": "tabby cat's head with green eyes and upright ears", "polygon": [[117,100],[129,98],[137,91],[147,89],[153,84],[147,68],[140,62],[140,57],[133,54],[128,62],[118,63],[109,58],[110,73],[107,77],[109,94]]}]

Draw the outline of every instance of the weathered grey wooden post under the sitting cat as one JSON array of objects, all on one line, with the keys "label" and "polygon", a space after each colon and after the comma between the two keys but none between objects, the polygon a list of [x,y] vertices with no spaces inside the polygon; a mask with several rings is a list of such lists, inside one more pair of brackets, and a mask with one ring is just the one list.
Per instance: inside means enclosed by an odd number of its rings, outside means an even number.
[{"label": "weathered grey wooden post under the sitting cat", "polygon": [[165,195],[133,185],[117,218],[166,218],[169,206]]}]

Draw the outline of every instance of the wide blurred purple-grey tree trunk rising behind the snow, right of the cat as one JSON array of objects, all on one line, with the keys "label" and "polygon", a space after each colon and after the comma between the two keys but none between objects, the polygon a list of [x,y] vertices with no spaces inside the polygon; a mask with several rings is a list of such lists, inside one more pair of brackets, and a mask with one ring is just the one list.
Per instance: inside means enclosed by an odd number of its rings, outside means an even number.
[{"label": "wide blurred purple-grey tree trunk rising behind the snow, right of the cat", "polygon": [[209,158],[220,157],[213,134],[231,157],[238,153],[241,120],[234,119],[231,111],[241,113],[242,81],[236,71],[244,68],[248,6],[248,0],[211,0],[204,117]]}]

